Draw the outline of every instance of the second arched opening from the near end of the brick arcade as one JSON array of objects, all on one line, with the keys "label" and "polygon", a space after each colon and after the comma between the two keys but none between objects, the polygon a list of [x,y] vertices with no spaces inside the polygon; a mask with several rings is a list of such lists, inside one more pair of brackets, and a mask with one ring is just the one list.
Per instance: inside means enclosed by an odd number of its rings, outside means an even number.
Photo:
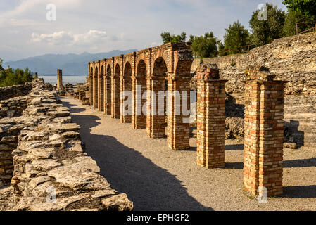
[{"label": "second arched opening from the near end of the brick arcade", "polygon": [[136,70],[136,78],[132,88],[132,95],[134,96],[132,125],[133,129],[146,128],[146,114],[143,112],[143,105],[146,104],[146,99],[142,98],[142,95],[146,92],[146,74],[147,67],[144,60],[139,60]]}]

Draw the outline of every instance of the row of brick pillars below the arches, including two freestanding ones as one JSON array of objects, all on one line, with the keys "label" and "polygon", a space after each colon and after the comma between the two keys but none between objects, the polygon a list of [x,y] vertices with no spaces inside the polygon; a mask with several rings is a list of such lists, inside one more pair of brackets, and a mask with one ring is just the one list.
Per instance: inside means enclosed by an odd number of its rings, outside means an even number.
[{"label": "row of brick pillars below the arches, including two freestanding ones", "polygon": [[[225,82],[217,65],[202,64],[197,68],[197,157],[198,165],[206,168],[225,167]],[[258,188],[267,188],[267,196],[282,194],[284,84],[275,80],[267,68],[246,71],[244,92],[244,189],[258,195]],[[179,95],[159,97],[159,91],[187,91],[187,98]],[[96,80],[94,79],[93,87]],[[147,129],[151,138],[165,137],[165,108],[167,110],[168,147],[188,149],[190,77],[119,76],[104,77],[104,112],[121,122],[132,122],[133,129]],[[91,85],[91,82],[90,82]],[[102,87],[99,87],[102,89]],[[132,116],[120,115],[120,92],[132,91]],[[90,91],[90,90],[89,90]],[[147,91],[144,98],[142,94]],[[93,92],[93,93],[92,93]],[[89,92],[95,94],[95,90]],[[155,93],[155,95],[153,95]],[[131,97],[131,96],[129,96]],[[110,101],[111,104],[108,102]],[[163,101],[159,103],[159,101]],[[144,104],[147,102],[147,105]],[[168,104],[166,104],[168,103]],[[97,101],[93,98],[93,105]],[[182,106],[180,106],[182,105]],[[100,107],[100,106],[99,106]],[[147,115],[144,115],[144,110]]]}]

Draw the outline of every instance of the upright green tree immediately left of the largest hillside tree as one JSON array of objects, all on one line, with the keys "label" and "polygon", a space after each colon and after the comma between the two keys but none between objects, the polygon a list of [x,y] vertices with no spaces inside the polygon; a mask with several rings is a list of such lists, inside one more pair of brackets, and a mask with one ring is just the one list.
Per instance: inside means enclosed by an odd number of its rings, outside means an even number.
[{"label": "upright green tree immediately left of the largest hillside tree", "polygon": [[224,49],[229,50],[230,53],[240,53],[242,46],[249,44],[249,32],[239,20],[229,25],[228,29],[225,29],[224,35]]}]

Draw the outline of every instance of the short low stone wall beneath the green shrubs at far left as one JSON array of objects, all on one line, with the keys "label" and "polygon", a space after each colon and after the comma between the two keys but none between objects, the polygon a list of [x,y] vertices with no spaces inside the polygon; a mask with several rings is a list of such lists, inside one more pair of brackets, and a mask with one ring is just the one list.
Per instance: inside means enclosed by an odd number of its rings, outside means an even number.
[{"label": "short low stone wall beneath the green shrubs at far left", "polygon": [[0,87],[0,101],[27,95],[32,89],[32,82],[25,84]]}]

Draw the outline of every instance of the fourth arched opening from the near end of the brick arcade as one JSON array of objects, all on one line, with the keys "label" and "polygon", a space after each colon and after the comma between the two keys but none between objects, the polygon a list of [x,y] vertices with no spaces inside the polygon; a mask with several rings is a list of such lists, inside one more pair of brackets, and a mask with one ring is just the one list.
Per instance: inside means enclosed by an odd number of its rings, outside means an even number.
[{"label": "fourth arched opening from the near end of the brick arcade", "polygon": [[112,76],[112,111],[113,118],[120,118],[120,65],[116,63]]}]

